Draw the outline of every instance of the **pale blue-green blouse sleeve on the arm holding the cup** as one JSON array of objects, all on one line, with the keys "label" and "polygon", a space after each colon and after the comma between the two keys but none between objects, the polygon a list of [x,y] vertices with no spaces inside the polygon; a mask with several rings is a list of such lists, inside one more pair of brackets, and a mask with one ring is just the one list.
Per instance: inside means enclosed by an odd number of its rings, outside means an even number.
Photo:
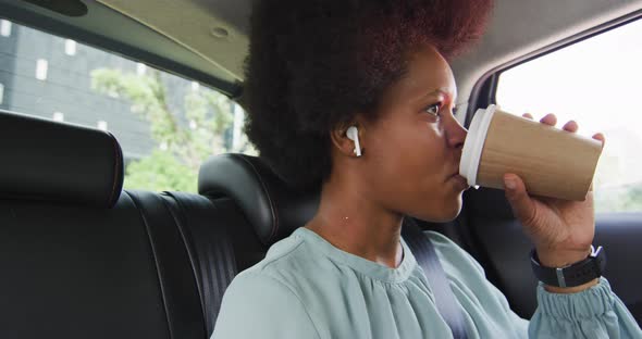
[{"label": "pale blue-green blouse sleeve on the arm holding the cup", "polygon": [[[552,293],[538,286],[538,309],[529,321],[510,310],[504,293],[485,277],[482,266],[445,236],[428,231],[450,279],[473,287],[485,317],[501,324],[510,338],[619,338],[642,339],[642,330],[622,301],[612,291],[608,280],[577,293]],[[466,302],[466,300],[460,300]],[[477,304],[468,303],[472,310]],[[466,304],[465,304],[466,307]]]}]

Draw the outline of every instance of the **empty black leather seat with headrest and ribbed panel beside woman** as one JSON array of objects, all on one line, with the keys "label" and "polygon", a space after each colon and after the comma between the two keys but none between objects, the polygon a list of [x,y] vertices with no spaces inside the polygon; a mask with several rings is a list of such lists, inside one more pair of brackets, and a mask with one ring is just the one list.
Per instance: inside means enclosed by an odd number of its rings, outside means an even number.
[{"label": "empty black leather seat with headrest and ribbed panel beside woman", "polygon": [[122,192],[108,133],[0,112],[0,338],[209,338],[229,200]]}]

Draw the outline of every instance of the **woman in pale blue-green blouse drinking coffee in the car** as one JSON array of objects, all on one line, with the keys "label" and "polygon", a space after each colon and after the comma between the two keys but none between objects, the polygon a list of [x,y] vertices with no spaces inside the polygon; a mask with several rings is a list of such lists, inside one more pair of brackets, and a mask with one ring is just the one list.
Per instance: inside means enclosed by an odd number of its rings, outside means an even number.
[{"label": "woman in pale blue-green blouse drinking coffee in the car", "polygon": [[[400,226],[406,215],[445,222],[461,209],[466,129],[454,116],[447,60],[479,37],[490,8],[489,0],[255,5],[248,136],[283,179],[321,187],[321,202],[305,227],[234,279],[212,338],[452,337]],[[555,125],[555,116],[542,123]],[[505,186],[543,265],[587,258],[592,193],[584,202],[535,199],[511,174]],[[439,234],[428,236],[469,338],[642,338],[604,278],[575,288],[541,285],[528,322],[471,256]]]}]

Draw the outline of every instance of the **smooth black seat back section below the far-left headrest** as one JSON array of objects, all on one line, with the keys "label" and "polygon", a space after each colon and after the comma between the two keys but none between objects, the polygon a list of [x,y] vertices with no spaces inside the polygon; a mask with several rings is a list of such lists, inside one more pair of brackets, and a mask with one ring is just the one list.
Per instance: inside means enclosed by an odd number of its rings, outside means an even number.
[{"label": "smooth black seat back section below the far-left headrest", "polygon": [[171,338],[139,211],[0,201],[0,338]]}]

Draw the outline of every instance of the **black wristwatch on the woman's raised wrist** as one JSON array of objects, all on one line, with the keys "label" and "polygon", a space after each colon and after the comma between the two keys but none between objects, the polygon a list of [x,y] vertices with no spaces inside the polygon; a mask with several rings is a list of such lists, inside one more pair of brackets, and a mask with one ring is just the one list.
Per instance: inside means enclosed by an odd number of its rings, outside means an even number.
[{"label": "black wristwatch on the woman's raised wrist", "polygon": [[564,267],[546,267],[540,264],[535,250],[531,251],[531,266],[538,279],[548,286],[576,287],[602,276],[606,254],[602,247],[591,246],[591,254],[580,262]]}]

